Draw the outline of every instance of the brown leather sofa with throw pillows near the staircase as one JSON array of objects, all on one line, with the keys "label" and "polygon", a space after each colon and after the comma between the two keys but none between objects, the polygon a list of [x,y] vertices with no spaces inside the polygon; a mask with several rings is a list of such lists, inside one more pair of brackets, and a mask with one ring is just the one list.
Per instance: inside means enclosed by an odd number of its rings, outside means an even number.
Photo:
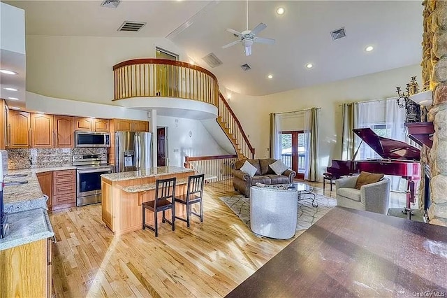
[{"label": "brown leather sofa with throw pillows near the staircase", "polygon": [[[256,173],[253,177],[240,170],[245,161],[256,167]],[[255,186],[256,183],[263,183],[267,185],[293,183],[293,178],[296,176],[295,171],[288,169],[281,175],[277,175],[272,169],[270,169],[269,165],[276,161],[277,159],[262,158],[242,159],[235,162],[235,169],[231,170],[235,190],[241,194],[244,194],[245,197],[249,197],[250,187]]]}]

